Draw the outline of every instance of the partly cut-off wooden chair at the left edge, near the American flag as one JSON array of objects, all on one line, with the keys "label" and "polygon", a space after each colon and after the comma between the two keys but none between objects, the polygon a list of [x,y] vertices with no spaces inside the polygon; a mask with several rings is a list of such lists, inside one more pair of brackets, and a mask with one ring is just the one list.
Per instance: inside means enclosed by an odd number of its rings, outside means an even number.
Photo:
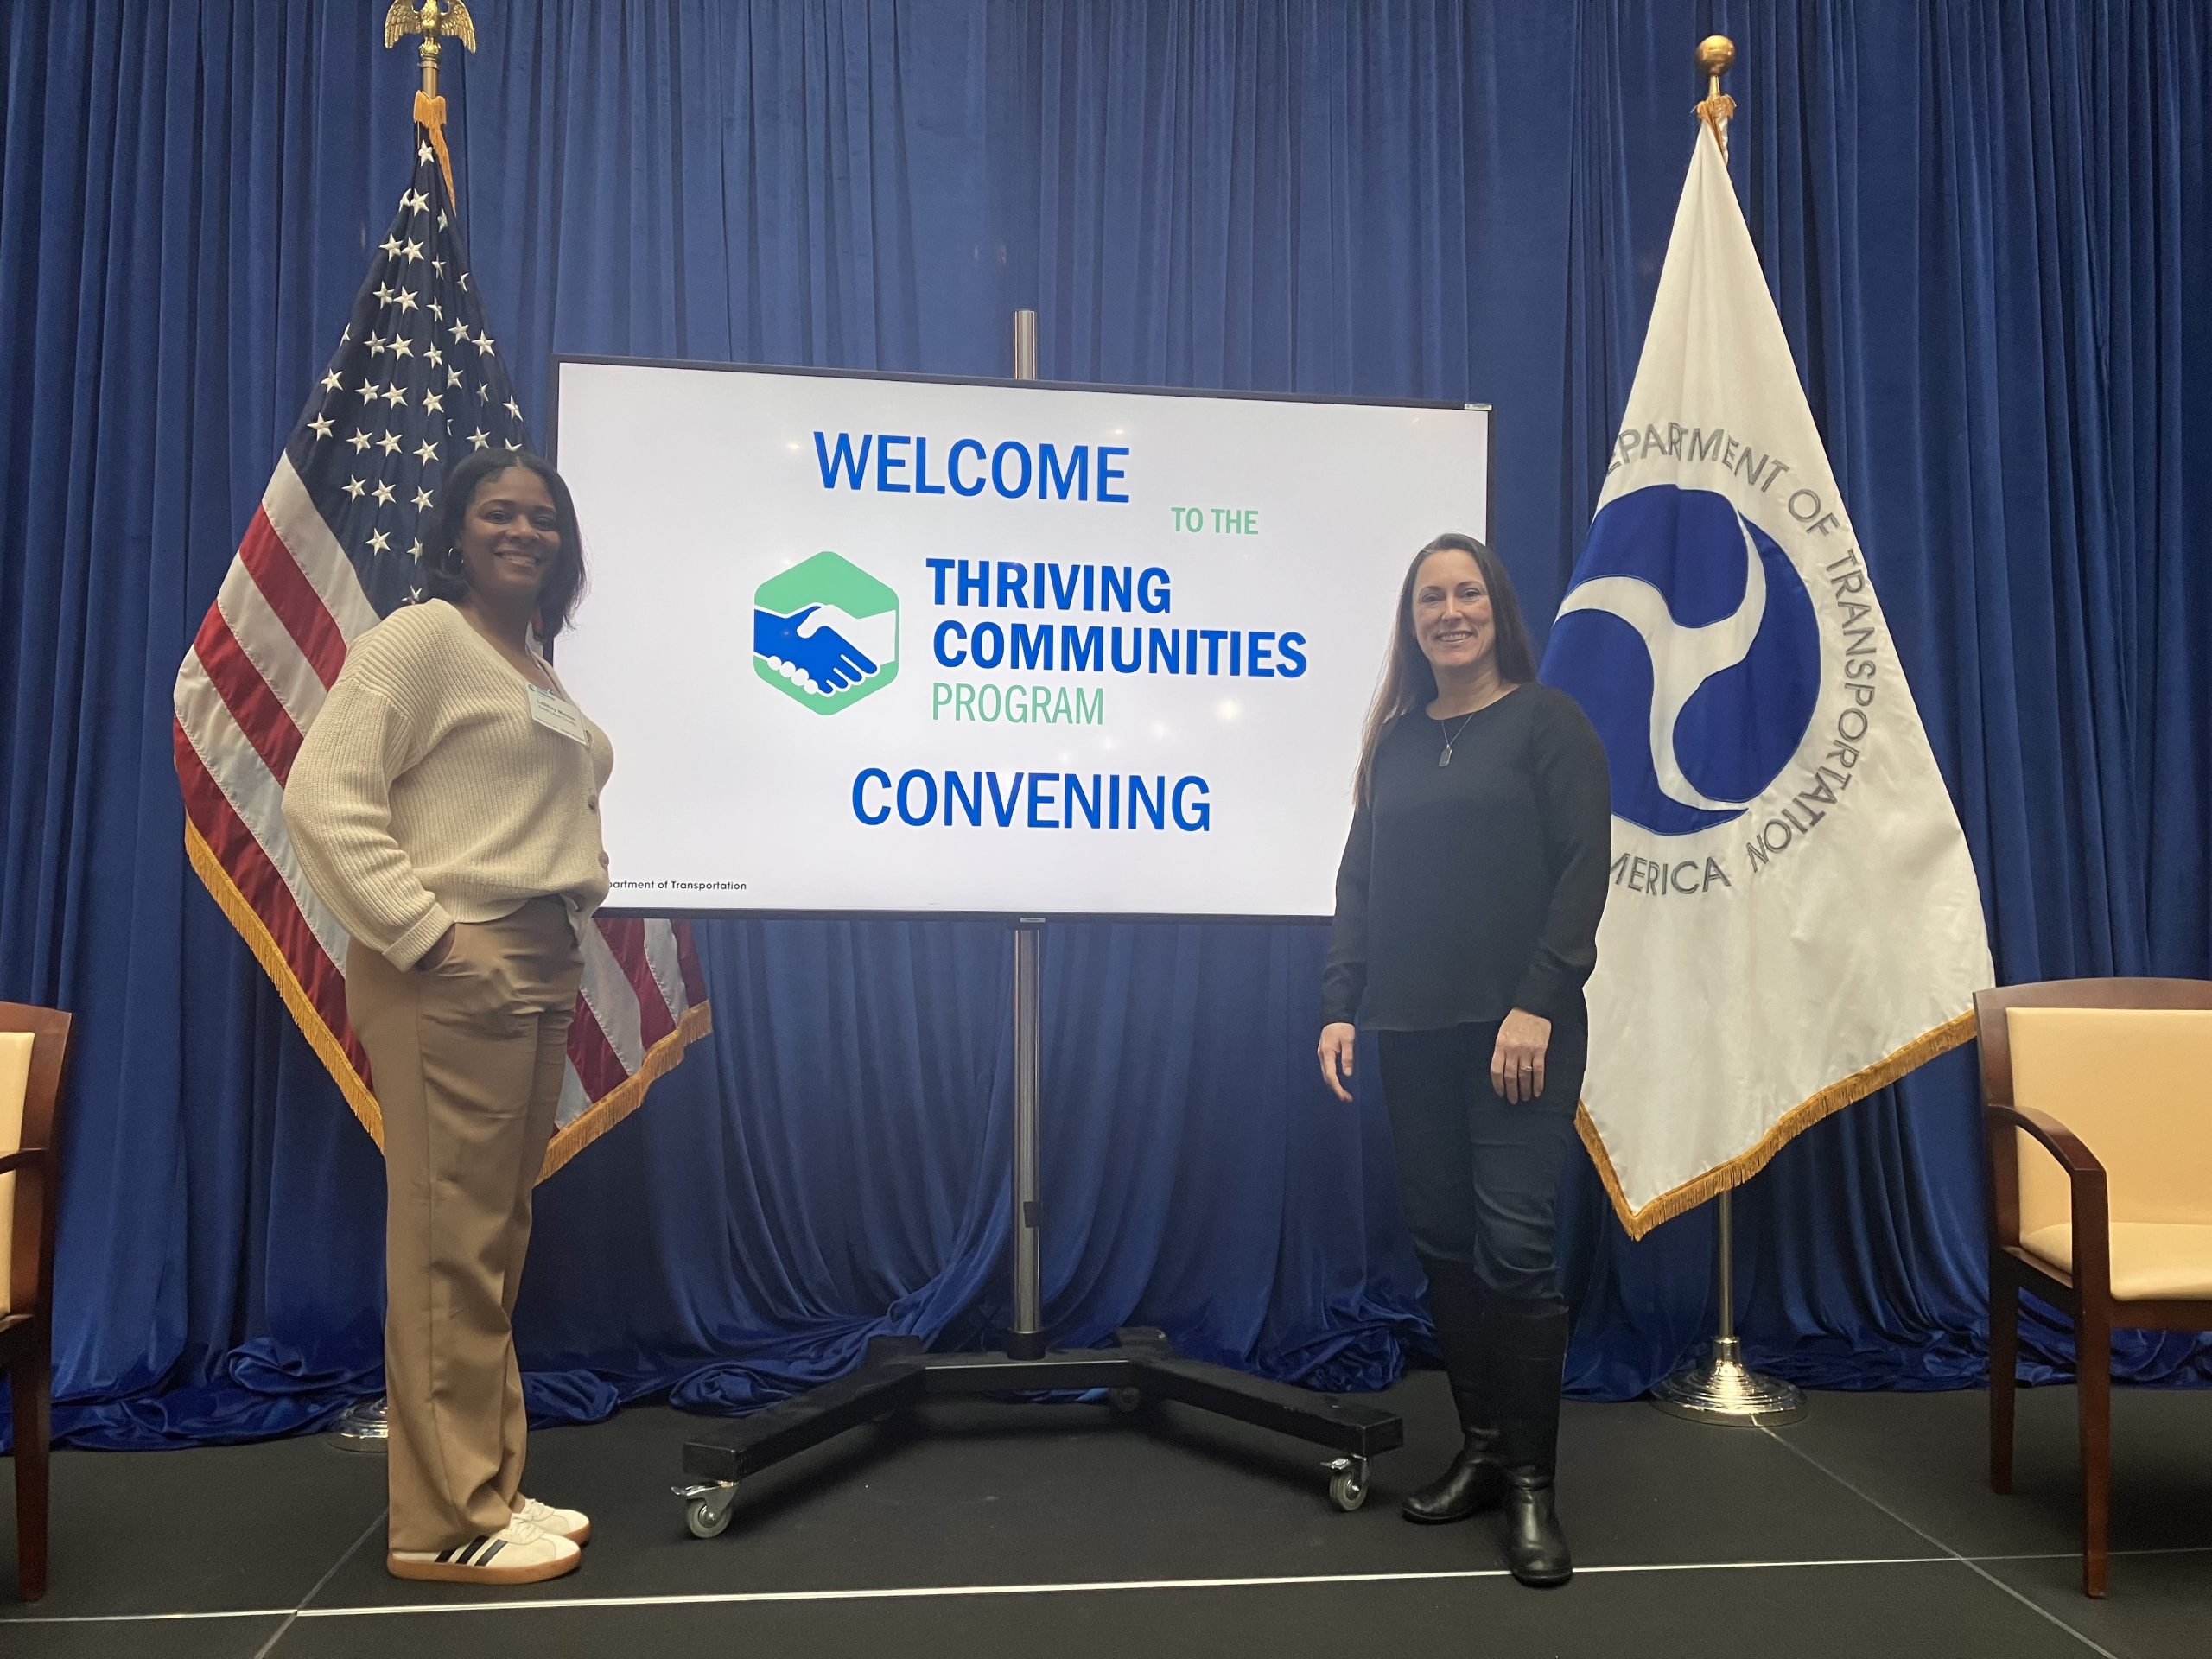
[{"label": "partly cut-off wooden chair at the left edge, near the American flag", "polygon": [[66,1013],[0,1002],[0,1367],[15,1407],[15,1584],[24,1601],[46,1593],[55,1144],[66,1064]]}]

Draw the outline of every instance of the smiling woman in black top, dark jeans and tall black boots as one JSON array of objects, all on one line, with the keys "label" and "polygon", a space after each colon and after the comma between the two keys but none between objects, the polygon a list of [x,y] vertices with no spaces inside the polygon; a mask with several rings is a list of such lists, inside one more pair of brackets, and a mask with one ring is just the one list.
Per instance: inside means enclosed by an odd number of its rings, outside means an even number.
[{"label": "smiling woman in black top, dark jeans and tall black boots", "polygon": [[1354,1022],[1380,1035],[1398,1192],[1467,1436],[1405,1515],[1504,1504],[1513,1577],[1564,1584],[1553,1212],[1588,1051],[1610,790],[1588,717],[1535,684],[1504,566],[1467,535],[1438,535],[1405,575],[1356,799],[1321,1075],[1352,1099]]}]

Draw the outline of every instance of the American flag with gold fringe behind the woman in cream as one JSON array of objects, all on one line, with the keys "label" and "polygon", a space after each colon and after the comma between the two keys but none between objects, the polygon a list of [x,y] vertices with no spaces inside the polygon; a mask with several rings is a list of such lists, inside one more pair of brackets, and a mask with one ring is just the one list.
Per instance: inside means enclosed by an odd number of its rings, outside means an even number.
[{"label": "American flag with gold fringe behind the woman in cream", "polygon": [[[345,1020],[345,929],[307,887],[281,805],[347,644],[416,593],[418,526],[445,467],[487,445],[529,449],[469,281],[442,115],[442,100],[416,106],[414,179],[175,695],[192,867],[378,1144],[367,1055]],[[544,1175],[635,1108],[708,1029],[690,929],[602,920],[586,938]]]}]

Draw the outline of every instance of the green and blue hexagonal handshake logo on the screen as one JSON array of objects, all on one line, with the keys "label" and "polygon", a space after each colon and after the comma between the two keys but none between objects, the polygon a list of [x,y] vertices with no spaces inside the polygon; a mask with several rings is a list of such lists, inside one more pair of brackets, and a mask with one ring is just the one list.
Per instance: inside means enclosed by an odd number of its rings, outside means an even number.
[{"label": "green and blue hexagonal handshake logo on the screen", "polygon": [[898,679],[898,595],[858,564],[816,553],[752,595],[752,672],[816,714]]}]

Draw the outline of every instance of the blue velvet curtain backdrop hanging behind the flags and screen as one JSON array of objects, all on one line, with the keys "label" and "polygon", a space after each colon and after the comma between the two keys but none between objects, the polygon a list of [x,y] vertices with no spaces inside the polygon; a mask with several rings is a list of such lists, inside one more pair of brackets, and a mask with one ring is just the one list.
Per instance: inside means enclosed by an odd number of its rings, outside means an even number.
[{"label": "blue velvet curtain backdrop hanging behind the flags and screen", "polygon": [[[380,9],[378,9],[380,11]],[[553,352],[1498,405],[1537,622],[1626,400],[1703,91],[1975,860],[2004,978],[2212,973],[2208,9],[2139,0],[484,7],[449,53],[495,336]],[[58,1413],[279,1433],[376,1385],[374,1148],[188,874],[168,692],[409,168],[369,7],[7,7],[0,998],[80,1013]],[[1376,619],[1383,637],[1385,622]],[[1882,925],[1882,918],[1869,918]],[[741,1409],[1004,1321],[1006,938],[699,929],[714,1040],[542,1192],[540,1418]],[[1329,1387],[1422,1343],[1371,1084],[1312,1075],[1316,927],[1060,927],[1046,1312]],[[1714,1006],[1725,1020],[1728,1009]],[[1374,1077],[1371,1064],[1363,1073]],[[1805,1383],[1984,1367],[1971,1053],[1739,1203]],[[1705,1214],[1577,1170],[1571,1383],[1712,1327]],[[2066,1345],[2031,1332],[2039,1374]],[[2194,1338],[2121,1347],[2205,1380]]]}]

